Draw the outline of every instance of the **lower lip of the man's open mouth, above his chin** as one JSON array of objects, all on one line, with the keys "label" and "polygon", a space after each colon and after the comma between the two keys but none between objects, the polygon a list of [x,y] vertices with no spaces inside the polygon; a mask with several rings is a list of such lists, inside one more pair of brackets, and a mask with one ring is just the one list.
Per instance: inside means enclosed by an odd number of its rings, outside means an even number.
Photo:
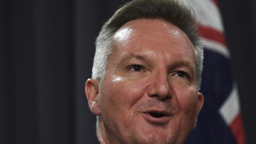
[{"label": "lower lip of the man's open mouth, above his chin", "polygon": [[149,113],[143,113],[142,116],[152,124],[166,124],[171,119],[171,116],[162,116],[159,118],[155,118],[154,116],[151,116]]}]

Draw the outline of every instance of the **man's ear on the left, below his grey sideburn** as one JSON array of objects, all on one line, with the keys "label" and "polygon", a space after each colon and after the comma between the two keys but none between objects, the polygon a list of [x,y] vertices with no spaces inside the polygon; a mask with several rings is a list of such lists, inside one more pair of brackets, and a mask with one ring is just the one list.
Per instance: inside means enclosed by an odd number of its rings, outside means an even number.
[{"label": "man's ear on the left, below his grey sideburn", "polygon": [[99,86],[97,80],[87,79],[85,83],[85,94],[91,112],[96,116],[101,115],[100,106],[98,104]]}]

